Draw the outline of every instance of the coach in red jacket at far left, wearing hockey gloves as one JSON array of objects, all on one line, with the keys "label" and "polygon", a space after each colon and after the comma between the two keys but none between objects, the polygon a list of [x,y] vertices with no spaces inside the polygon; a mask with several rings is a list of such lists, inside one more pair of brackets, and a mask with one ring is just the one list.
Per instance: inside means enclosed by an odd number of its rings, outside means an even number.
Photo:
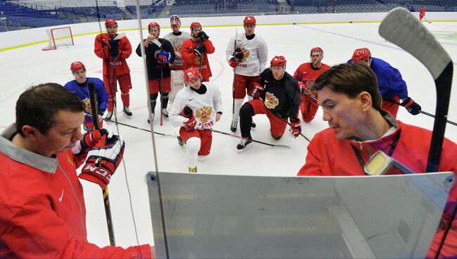
[{"label": "coach in red jacket at far left, wearing hockey gloves", "polygon": [[[87,241],[84,195],[75,168],[89,152],[79,177],[101,187],[108,184],[110,177],[86,171],[86,166],[94,158],[113,168],[104,172],[113,173],[124,142],[108,135],[116,139],[110,144],[117,149],[91,149],[103,130],[83,136],[82,122],[84,103],[59,84],[41,84],[19,97],[16,123],[0,137],[0,258],[155,258],[149,245],[99,248]],[[102,149],[115,154],[118,163],[92,156]],[[96,167],[91,164],[99,171]]]}]

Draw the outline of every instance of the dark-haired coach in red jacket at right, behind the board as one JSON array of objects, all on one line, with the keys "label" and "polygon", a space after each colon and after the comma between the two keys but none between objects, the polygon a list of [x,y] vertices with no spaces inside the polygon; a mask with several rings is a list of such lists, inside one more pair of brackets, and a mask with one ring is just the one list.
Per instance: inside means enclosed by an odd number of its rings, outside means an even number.
[{"label": "dark-haired coach in red jacket at right, behind the board", "polygon": [[[407,125],[381,109],[382,97],[373,71],[363,64],[335,65],[323,72],[312,89],[328,129],[318,132],[308,146],[298,175],[365,175],[363,165],[380,150],[414,172],[425,172],[432,132]],[[457,145],[444,139],[439,171],[457,173]],[[359,160],[358,157],[361,159]],[[427,258],[435,257],[450,212],[456,206],[457,187],[451,189],[442,222]],[[444,258],[457,257],[457,220],[441,250]]]}]

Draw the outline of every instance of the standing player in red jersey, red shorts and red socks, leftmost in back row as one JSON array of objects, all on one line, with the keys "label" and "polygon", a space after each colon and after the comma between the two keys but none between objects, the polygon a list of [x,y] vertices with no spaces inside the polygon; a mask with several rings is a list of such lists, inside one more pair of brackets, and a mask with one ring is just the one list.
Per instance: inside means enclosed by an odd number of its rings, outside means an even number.
[{"label": "standing player in red jersey, red shorts and red socks, leftmost in back row", "polygon": [[[127,37],[115,39],[117,34],[117,22],[113,19],[105,21],[106,33],[98,34],[95,38],[94,52],[98,58],[103,59],[103,82],[105,82],[106,91],[108,92],[108,120],[112,117],[114,107],[115,91],[114,79],[119,83],[121,90],[121,99],[124,104],[123,113],[127,118],[131,118],[130,96],[131,89],[130,68],[125,61],[131,55],[131,45]],[[113,70],[113,67],[114,70]]]}]

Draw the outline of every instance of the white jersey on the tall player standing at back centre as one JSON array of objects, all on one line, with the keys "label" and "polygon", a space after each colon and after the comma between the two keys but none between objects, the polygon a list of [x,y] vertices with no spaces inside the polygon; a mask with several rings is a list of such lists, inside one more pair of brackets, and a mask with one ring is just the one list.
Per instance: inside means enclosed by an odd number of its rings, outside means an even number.
[{"label": "white jersey on the tall player standing at back centre", "polygon": [[[227,45],[226,58],[227,62],[233,58],[233,42],[235,39],[232,37]],[[268,49],[265,40],[259,35],[255,35],[253,39],[246,39],[246,34],[239,33],[236,35],[236,49],[239,48],[243,51],[243,59],[240,65],[236,68],[236,74],[257,76],[265,70],[266,61],[268,59]]]}]

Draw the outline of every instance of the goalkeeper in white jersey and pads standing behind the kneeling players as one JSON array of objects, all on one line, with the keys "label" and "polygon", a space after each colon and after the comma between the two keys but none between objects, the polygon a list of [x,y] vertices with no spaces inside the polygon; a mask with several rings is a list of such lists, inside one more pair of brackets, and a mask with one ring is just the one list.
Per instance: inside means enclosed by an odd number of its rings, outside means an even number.
[{"label": "goalkeeper in white jersey and pads standing behind the kneeling players", "polygon": [[172,15],[170,17],[170,26],[172,32],[166,34],[163,38],[167,39],[172,43],[176,58],[173,63],[169,63],[169,68],[172,72],[172,91],[169,93],[169,102],[173,103],[174,97],[179,90],[183,89],[184,84],[184,68],[183,58],[181,57],[181,45],[186,42],[187,39],[191,39],[191,34],[188,32],[181,32],[181,20],[178,15]]}]

